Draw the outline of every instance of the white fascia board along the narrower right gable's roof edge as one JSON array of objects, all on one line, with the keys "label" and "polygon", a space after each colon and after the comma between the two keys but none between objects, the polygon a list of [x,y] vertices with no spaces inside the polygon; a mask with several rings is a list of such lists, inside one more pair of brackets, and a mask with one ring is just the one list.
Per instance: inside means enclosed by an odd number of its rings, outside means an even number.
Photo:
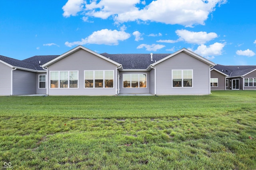
[{"label": "white fascia board along the narrower right gable's roof edge", "polygon": [[209,66],[215,66],[216,65],[215,63],[213,63],[213,62],[205,59],[204,57],[201,57],[200,55],[197,55],[196,53],[193,53],[192,51],[189,51],[188,49],[185,49],[185,48],[180,49],[179,51],[176,51],[175,53],[172,53],[171,55],[168,55],[167,57],[164,57],[163,59],[161,59],[161,60],[159,60],[156,63],[153,63],[151,65],[154,66],[158,63],[161,63],[162,61],[165,61],[166,59],[169,59],[170,57],[173,57],[174,55],[177,55],[178,53],[181,53],[181,52],[184,52],[184,53],[190,55],[191,57],[194,57],[194,58],[208,64]]}]

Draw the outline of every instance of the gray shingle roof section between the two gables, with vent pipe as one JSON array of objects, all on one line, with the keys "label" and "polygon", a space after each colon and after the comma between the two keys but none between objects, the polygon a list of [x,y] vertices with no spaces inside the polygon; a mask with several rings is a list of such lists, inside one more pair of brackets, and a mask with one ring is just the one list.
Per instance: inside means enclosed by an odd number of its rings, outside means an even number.
[{"label": "gray shingle roof section between the two gables, with vent pipe", "polygon": [[170,54],[153,54],[153,61],[150,61],[150,54],[100,54],[117,63],[122,64],[124,69],[146,69],[150,64],[159,61]]}]

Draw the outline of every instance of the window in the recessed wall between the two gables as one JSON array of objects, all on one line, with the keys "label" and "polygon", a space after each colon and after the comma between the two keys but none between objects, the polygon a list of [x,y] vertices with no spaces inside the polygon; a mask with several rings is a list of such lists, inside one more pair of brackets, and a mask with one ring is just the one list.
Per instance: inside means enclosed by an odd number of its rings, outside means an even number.
[{"label": "window in the recessed wall between the two gables", "polygon": [[123,74],[124,88],[146,88],[147,74]]}]

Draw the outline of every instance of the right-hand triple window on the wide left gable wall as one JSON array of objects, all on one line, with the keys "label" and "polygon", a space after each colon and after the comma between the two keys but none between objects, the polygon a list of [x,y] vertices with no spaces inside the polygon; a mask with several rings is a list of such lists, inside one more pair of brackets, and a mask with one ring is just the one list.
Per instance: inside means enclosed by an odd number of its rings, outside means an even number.
[{"label": "right-hand triple window on the wide left gable wall", "polygon": [[114,70],[84,71],[84,88],[114,88]]}]

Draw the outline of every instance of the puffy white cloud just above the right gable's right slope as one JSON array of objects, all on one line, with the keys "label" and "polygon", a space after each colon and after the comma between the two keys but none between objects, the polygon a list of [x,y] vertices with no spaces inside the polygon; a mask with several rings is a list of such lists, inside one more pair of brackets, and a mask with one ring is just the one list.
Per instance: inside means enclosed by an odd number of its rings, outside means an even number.
[{"label": "puffy white cloud just above the right gable's right slope", "polygon": [[206,58],[209,58],[209,56],[222,55],[222,50],[225,45],[225,43],[214,43],[207,47],[206,45],[202,44],[198,46],[194,53]]}]

